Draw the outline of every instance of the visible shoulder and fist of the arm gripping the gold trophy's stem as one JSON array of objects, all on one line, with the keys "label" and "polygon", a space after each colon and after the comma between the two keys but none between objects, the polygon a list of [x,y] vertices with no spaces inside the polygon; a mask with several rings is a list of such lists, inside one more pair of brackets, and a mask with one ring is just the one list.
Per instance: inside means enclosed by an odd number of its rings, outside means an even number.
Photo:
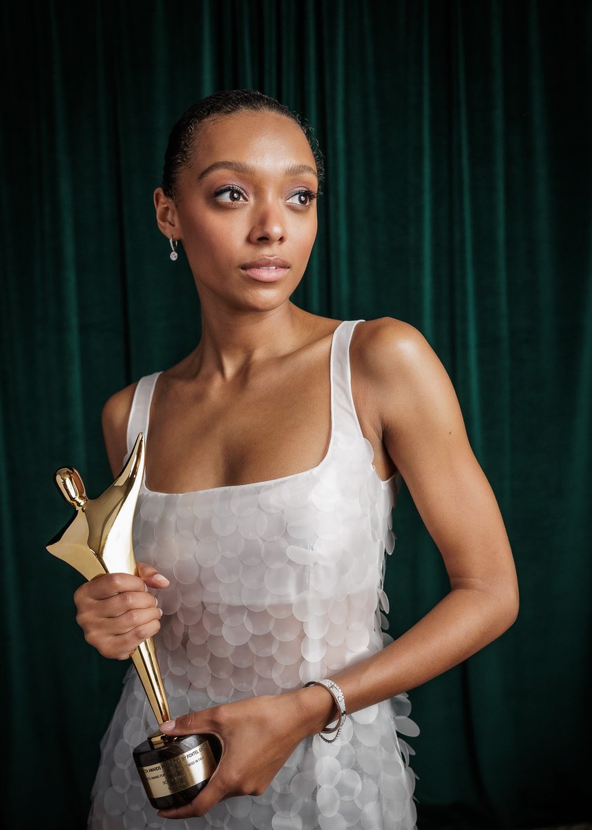
[{"label": "visible shoulder and fist of the arm gripping the gold trophy's stem", "polygon": [[[126,432],[135,383],[115,393],[103,408],[103,434],[113,475],[127,455]],[[138,562],[138,576],[104,574],[84,583],[74,594],[76,622],[104,657],[126,660],[133,649],[160,628],[162,611],[148,588],[166,588],[168,579]]]}]

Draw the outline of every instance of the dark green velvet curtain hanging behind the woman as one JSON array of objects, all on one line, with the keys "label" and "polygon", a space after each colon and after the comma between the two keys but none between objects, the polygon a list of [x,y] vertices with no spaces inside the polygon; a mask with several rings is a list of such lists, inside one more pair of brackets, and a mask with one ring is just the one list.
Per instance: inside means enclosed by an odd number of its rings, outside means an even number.
[{"label": "dark green velvet curtain hanging behind the woman", "polygon": [[[80,830],[123,665],[44,545],[53,471],[109,481],[100,408],[199,337],[152,190],[168,129],[255,87],[315,126],[328,181],[295,300],[416,325],[458,390],[517,560],[517,623],[411,692],[420,828],[590,807],[590,2],[2,2],[2,813]],[[446,486],[446,481],[442,481]],[[391,633],[448,589],[405,490]],[[7,768],[7,771],[6,771]]]}]

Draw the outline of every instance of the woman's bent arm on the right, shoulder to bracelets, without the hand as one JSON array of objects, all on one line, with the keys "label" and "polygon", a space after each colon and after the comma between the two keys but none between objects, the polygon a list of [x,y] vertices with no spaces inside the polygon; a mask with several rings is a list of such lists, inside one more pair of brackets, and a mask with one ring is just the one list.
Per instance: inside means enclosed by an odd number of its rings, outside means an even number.
[{"label": "woman's bent arm on the right, shoulder to bracelets, without the hand", "polygon": [[[425,338],[400,320],[372,321],[357,349],[365,410],[400,471],[449,576],[450,591],[395,642],[333,676],[347,710],[420,686],[512,625],[517,574],[493,491],[469,445],[459,402]],[[316,692],[313,701],[311,691]],[[318,686],[302,690],[322,729]]]}]

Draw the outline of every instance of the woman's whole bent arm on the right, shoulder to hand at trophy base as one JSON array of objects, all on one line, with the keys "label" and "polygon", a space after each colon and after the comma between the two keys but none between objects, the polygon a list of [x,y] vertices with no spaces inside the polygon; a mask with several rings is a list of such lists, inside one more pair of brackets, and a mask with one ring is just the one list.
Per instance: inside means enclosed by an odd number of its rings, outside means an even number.
[{"label": "woman's whole bent arm on the right, shoulder to hand at trophy base", "polygon": [[[403,476],[449,575],[450,591],[380,652],[332,679],[355,712],[419,686],[499,637],[517,616],[517,576],[502,516],[468,443],[444,367],[412,326],[365,325],[356,348],[357,397]],[[177,718],[172,734],[220,737],[221,764],[171,818],[203,815],[233,795],[263,792],[298,743],[335,720],[323,686],[259,696]]]}]

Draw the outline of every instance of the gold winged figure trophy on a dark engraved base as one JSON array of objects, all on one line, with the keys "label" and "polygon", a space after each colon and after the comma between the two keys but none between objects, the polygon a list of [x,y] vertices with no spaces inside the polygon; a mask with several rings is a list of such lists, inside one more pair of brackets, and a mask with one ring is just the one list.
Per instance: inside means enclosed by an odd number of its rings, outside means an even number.
[{"label": "gold winged figure trophy on a dark engraved base", "polygon": [[[137,574],[133,555],[133,514],[144,471],[144,437],[140,432],[124,469],[96,499],[89,499],[74,467],[56,472],[62,496],[75,508],[66,527],[47,545],[58,559],[86,579],[102,574]],[[163,677],[152,637],[130,657],[158,724],[171,719]],[[153,807],[181,807],[200,793],[220,760],[214,735],[164,735],[157,730],[133,750],[144,789]]]}]

